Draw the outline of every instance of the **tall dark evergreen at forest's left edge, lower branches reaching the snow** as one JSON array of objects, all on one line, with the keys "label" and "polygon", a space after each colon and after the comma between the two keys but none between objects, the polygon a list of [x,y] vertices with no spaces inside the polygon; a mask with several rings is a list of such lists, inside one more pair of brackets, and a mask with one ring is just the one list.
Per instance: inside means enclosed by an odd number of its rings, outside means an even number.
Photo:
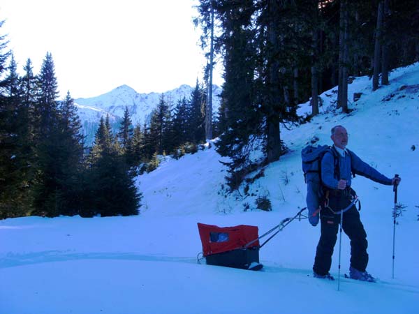
[{"label": "tall dark evergreen at forest's left edge, lower branches reaching the snow", "polygon": [[[256,110],[255,71],[256,47],[252,16],[256,8],[253,1],[223,1],[215,6],[221,17],[223,34],[224,79],[223,124],[226,130],[216,143],[221,156],[230,156],[232,162],[228,185],[238,187],[247,173],[252,140],[260,135],[261,115]],[[255,136],[253,136],[255,135]]]}]

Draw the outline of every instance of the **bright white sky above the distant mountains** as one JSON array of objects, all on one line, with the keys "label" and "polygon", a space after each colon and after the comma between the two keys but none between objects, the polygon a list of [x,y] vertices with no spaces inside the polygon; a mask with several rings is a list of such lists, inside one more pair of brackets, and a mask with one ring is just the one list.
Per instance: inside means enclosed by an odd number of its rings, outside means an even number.
[{"label": "bright white sky above the distant mountains", "polygon": [[[122,84],[139,93],[202,81],[196,0],[0,0],[17,70],[37,74],[52,53],[61,98],[104,94]],[[214,73],[214,84],[223,80]]]}]

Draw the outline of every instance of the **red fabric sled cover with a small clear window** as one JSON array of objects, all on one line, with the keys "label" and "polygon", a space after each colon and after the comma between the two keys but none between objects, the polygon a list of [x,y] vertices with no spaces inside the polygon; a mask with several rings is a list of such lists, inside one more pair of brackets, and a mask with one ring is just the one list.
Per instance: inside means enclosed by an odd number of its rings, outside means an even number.
[{"label": "red fabric sled cover with a small clear window", "polygon": [[[198,230],[203,244],[203,255],[212,255],[243,248],[249,242],[258,239],[258,227],[253,225],[236,225],[235,227],[218,227],[198,223]],[[259,246],[253,242],[249,248]]]}]

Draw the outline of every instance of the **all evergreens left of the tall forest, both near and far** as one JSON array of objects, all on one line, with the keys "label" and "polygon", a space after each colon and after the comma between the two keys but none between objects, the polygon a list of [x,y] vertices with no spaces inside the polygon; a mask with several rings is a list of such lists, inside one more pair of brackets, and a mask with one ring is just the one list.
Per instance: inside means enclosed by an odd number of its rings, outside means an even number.
[{"label": "all evergreens left of the tall forest, both near and far", "polygon": [[6,39],[0,37],[0,219],[138,214],[135,176],[154,170],[161,155],[179,158],[205,141],[206,95],[197,82],[191,98],[175,105],[162,94],[143,126],[133,126],[128,108],[115,134],[109,117],[101,119],[85,147],[71,94],[58,100],[52,54],[37,75],[28,59],[20,76]]}]

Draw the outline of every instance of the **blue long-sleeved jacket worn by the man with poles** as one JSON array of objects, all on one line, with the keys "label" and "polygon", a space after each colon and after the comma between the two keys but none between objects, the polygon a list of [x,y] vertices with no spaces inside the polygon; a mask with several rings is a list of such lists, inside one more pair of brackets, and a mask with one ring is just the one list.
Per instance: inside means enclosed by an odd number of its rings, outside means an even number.
[{"label": "blue long-sleeved jacket worn by the man with poles", "polygon": [[361,158],[353,153],[353,151],[348,152],[348,149],[346,149],[345,157],[342,157],[337,152],[336,154],[337,158],[339,158],[339,178],[337,178],[337,174],[335,174],[335,157],[333,156],[333,153],[327,151],[321,160],[321,179],[323,185],[326,187],[336,189],[339,179],[346,180],[346,185],[351,186],[351,169],[355,174],[359,174],[362,177],[367,177],[368,179],[372,179],[380,184],[385,184],[386,186],[392,185],[392,179],[385,177],[385,175],[362,161]]}]

